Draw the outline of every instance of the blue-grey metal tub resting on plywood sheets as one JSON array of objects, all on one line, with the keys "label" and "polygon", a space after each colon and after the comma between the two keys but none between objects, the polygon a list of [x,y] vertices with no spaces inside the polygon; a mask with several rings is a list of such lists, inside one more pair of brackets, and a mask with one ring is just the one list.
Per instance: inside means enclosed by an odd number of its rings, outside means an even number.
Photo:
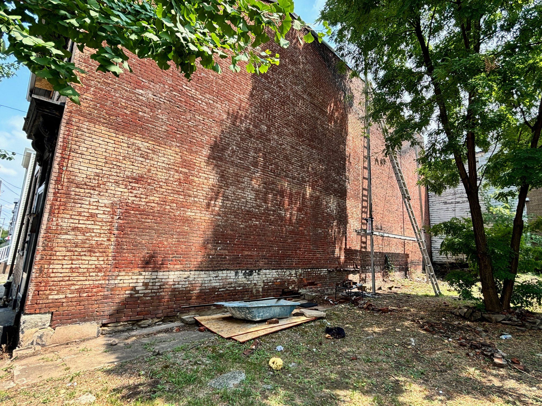
[{"label": "blue-grey metal tub resting on plywood sheets", "polygon": [[284,299],[259,300],[258,302],[216,302],[215,304],[223,305],[230,315],[236,319],[253,320],[268,320],[268,319],[284,319],[290,317],[297,302],[289,302]]}]

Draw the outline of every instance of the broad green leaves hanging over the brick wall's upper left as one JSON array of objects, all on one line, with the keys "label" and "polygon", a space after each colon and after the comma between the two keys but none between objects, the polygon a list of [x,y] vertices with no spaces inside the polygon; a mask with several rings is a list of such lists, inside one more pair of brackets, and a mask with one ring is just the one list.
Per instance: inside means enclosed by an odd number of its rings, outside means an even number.
[{"label": "broad green leaves hanging over the brick wall's upper left", "polygon": [[[279,63],[279,55],[259,46],[271,36],[286,48],[287,32],[306,26],[292,19],[293,10],[292,0],[3,1],[1,52],[14,55],[61,95],[79,102],[72,83],[80,83],[83,71],[70,59],[68,41],[80,50],[95,49],[98,70],[116,76],[130,70],[125,51],[150,58],[162,69],[172,63],[187,78],[197,61],[220,73],[216,58],[230,58],[233,71],[242,62],[249,73],[264,73]],[[304,40],[314,40],[311,31]]]}]

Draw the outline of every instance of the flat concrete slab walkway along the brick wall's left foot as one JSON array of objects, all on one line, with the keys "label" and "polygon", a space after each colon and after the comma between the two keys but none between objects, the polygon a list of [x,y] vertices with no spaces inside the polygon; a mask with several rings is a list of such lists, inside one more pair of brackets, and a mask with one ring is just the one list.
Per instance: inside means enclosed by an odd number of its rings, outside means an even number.
[{"label": "flat concrete slab walkway along the brick wall's left foot", "polygon": [[[160,327],[162,331],[158,329]],[[167,329],[166,331],[164,331]],[[210,332],[199,332],[192,326],[179,323],[165,323],[149,329],[137,330],[118,335],[100,336],[84,341],[42,348],[39,355],[14,358],[12,381],[7,385],[24,385],[47,378],[57,378],[102,368],[119,362],[148,356],[152,351],[167,351],[186,343],[216,337]],[[109,342],[117,340],[117,344]]]}]

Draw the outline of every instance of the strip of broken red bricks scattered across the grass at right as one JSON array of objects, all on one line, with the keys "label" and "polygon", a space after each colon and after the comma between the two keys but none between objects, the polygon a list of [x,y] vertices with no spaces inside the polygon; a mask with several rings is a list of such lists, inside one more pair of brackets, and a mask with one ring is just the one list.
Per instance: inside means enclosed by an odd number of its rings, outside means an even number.
[{"label": "strip of broken red bricks scattered across the grass at right", "polygon": [[[496,348],[495,344],[488,343],[483,340],[470,339],[464,334],[458,335],[460,327],[455,324],[458,322],[455,322],[454,325],[449,325],[447,323],[427,322],[425,320],[416,320],[416,322],[420,325],[422,330],[435,336],[441,336],[449,341],[453,341],[455,339],[457,345],[467,349],[466,355],[468,357],[486,357],[491,359],[493,361],[493,365],[498,366],[499,368],[504,368],[510,364],[515,369],[527,372],[525,365],[522,365],[518,358],[506,358],[506,353]],[[480,332],[484,330],[477,328],[476,331]],[[485,334],[482,334],[482,336],[485,336]]]}]

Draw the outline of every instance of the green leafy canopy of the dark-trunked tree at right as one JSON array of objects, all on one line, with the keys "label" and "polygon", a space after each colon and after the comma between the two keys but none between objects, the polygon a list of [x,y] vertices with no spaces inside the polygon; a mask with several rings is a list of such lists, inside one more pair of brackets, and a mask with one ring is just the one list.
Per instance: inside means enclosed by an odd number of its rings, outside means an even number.
[{"label": "green leafy canopy of the dark-trunked tree at right", "polygon": [[495,184],[542,185],[533,173],[542,150],[524,150],[540,117],[542,3],[327,0],[321,18],[339,53],[372,74],[372,115],[386,116],[390,146],[427,136],[422,175],[431,191],[459,183],[469,133],[477,150],[500,143],[486,173]]}]

